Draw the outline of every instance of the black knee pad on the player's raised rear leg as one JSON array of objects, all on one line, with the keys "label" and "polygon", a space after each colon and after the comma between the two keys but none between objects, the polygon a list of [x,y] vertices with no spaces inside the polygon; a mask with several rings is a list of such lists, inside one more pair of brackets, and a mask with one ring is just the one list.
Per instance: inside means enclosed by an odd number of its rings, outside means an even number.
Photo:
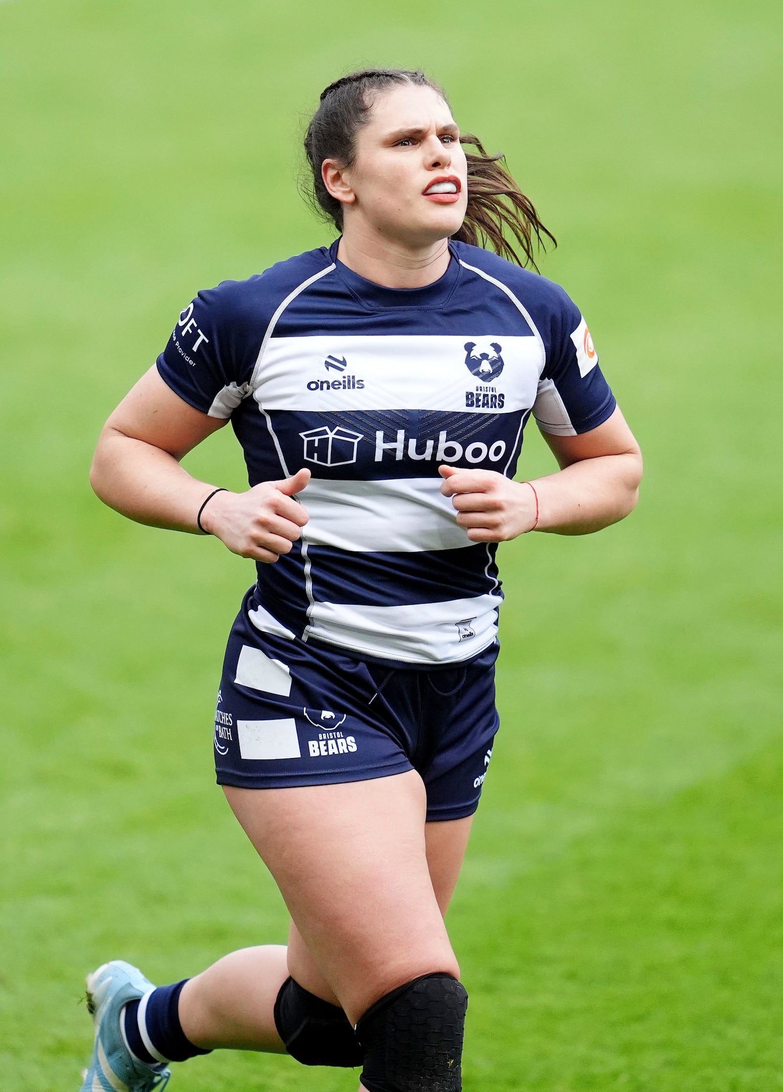
[{"label": "black knee pad on the player's raised rear leg", "polygon": [[305,1066],[360,1066],[361,1048],[337,1005],[286,978],[274,1002],[274,1024],[288,1054]]}]

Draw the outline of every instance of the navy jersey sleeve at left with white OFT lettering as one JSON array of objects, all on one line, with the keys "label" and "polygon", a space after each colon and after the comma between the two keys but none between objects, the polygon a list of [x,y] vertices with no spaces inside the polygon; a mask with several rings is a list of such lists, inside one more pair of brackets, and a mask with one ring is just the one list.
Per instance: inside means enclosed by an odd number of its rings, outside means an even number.
[{"label": "navy jersey sleeve at left with white OFT lettering", "polygon": [[210,417],[230,417],[249,390],[264,334],[253,280],[200,292],[157,358],[163,380]]}]

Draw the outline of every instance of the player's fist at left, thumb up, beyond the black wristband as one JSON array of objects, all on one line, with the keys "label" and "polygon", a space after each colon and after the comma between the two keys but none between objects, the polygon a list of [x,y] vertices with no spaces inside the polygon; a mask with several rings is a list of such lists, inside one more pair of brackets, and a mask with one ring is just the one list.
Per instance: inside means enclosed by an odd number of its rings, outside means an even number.
[{"label": "player's fist at left, thumb up, beyond the black wristband", "polygon": [[300,470],[282,482],[262,482],[247,492],[216,492],[201,515],[204,531],[215,535],[233,554],[271,565],[290,550],[308,520],[292,498],[310,480]]}]

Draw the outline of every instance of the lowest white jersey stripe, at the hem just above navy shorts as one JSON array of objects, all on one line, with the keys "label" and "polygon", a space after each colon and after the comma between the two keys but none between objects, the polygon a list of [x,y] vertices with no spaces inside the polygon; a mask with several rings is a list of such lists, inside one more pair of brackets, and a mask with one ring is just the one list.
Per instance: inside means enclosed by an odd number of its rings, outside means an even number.
[{"label": "lowest white jersey stripe, at the hem just above navy shorts", "polygon": [[305,638],[411,664],[459,663],[493,643],[498,595],[396,607],[316,603]]}]

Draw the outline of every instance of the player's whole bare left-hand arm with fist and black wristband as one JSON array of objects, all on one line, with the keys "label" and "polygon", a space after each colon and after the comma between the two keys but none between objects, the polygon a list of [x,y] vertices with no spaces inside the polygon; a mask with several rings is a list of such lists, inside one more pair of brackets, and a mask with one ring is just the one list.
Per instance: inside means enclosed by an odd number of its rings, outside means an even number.
[{"label": "player's whole bare left-hand arm with fist and black wristband", "polygon": [[[104,426],[90,472],[98,497],[137,523],[200,534],[195,518],[214,485],[192,477],[179,461],[225,420],[193,410],[151,368]],[[234,554],[276,561],[307,523],[292,499],[310,472],[264,482],[246,492],[218,492],[202,525]]]}]

